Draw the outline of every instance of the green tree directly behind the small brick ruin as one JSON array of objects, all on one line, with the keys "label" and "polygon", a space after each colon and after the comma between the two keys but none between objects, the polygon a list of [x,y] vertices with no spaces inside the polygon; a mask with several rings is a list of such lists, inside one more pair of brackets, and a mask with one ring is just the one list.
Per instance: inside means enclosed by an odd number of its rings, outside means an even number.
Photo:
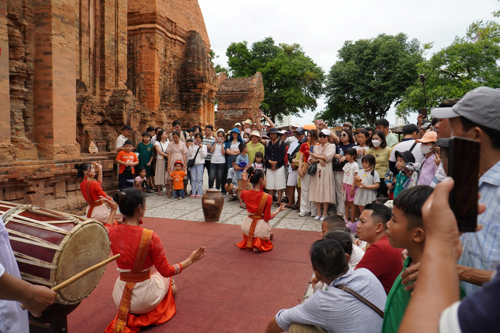
[{"label": "green tree directly behind the small brick ruin", "polygon": [[324,71],[299,44],[276,45],[271,37],[251,44],[247,41],[232,42],[226,50],[229,77],[249,77],[262,74],[264,100],[262,112],[271,120],[283,115],[299,115],[305,110],[315,110],[316,98],[322,94]]}]

